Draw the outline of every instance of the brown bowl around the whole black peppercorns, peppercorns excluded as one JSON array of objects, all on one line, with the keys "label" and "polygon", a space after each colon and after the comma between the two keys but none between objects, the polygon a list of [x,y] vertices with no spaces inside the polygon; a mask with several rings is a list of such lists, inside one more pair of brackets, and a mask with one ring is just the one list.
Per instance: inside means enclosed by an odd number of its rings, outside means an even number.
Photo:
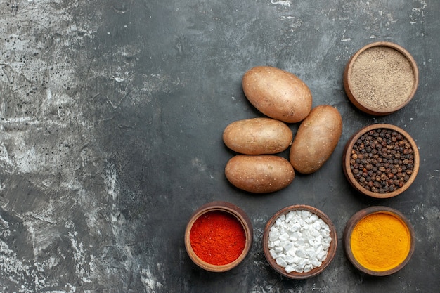
[{"label": "brown bowl around the whole black peppercorns, peppercorns excluded", "polygon": [[[352,157],[353,155],[351,154],[351,151],[353,150],[356,141],[358,141],[358,139],[361,138],[363,134],[367,134],[368,131],[374,131],[375,129],[390,129],[392,131],[396,131],[397,133],[401,134],[401,136],[406,138],[406,140],[408,141],[408,143],[410,143],[411,148],[413,150],[413,170],[412,170],[412,174],[410,174],[409,176],[409,180],[406,181],[406,183],[402,187],[396,188],[395,190],[388,190],[384,193],[373,192],[371,190],[365,189],[365,187],[363,187],[363,185],[361,185],[361,183],[359,183],[356,180],[355,176],[357,175],[355,175],[351,170],[351,162],[353,162],[351,160],[354,159],[354,157]],[[365,126],[363,129],[359,130],[356,134],[351,136],[351,138],[345,145],[344,156],[342,157],[342,166],[344,169],[344,174],[347,177],[349,183],[356,190],[358,190],[358,192],[375,198],[389,198],[403,193],[403,191],[407,190],[415,180],[415,177],[418,174],[419,165],[420,165],[420,155],[418,152],[417,145],[415,144],[415,141],[406,131],[392,124],[372,124],[370,126]]]}]

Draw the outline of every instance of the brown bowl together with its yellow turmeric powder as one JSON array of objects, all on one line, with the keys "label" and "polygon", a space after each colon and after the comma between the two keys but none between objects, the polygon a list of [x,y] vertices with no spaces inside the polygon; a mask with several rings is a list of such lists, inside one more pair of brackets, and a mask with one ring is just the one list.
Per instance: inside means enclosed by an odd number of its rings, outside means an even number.
[{"label": "brown bowl together with its yellow turmeric powder", "polygon": [[356,212],[344,229],[349,261],[368,275],[391,275],[410,260],[415,245],[413,226],[390,207],[368,207]]}]

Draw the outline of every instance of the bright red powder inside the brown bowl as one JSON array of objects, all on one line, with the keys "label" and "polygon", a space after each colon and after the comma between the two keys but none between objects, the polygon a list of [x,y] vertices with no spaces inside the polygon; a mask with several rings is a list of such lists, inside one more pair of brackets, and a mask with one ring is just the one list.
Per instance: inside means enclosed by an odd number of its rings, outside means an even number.
[{"label": "bright red powder inside the brown bowl", "polygon": [[242,223],[226,211],[209,211],[195,220],[190,244],[195,254],[207,263],[221,266],[238,259],[245,248]]}]

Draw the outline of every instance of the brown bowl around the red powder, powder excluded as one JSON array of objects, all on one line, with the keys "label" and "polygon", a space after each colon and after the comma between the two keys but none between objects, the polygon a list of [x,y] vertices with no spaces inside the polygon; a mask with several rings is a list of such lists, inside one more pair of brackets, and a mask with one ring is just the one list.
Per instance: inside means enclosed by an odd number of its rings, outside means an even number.
[{"label": "brown bowl around the red powder, powder excluded", "polygon": [[[193,228],[193,224],[195,223],[195,221],[197,221],[197,219],[200,218],[200,216],[208,214],[212,211],[223,211],[232,215],[233,217],[235,217],[235,219],[237,219],[241,223],[243,230],[245,232],[245,247],[242,250],[240,256],[238,256],[238,258],[235,259],[235,261],[232,261],[231,263],[227,263],[224,265],[214,265],[212,263],[207,263],[206,261],[200,259],[200,257],[197,254],[195,254],[193,247],[191,247],[190,232],[191,232],[191,228]],[[250,247],[252,246],[253,235],[254,234],[252,230],[252,223],[249,217],[247,216],[247,214],[245,214],[245,211],[240,209],[240,207],[237,207],[235,204],[231,204],[229,202],[220,202],[220,201],[209,202],[207,204],[202,205],[202,207],[199,207],[193,213],[193,215],[190,217],[190,220],[188,221],[185,231],[186,252],[188,252],[190,259],[196,265],[200,266],[200,268],[203,268],[206,271],[212,271],[212,272],[229,271],[232,268],[235,268],[235,266],[238,266],[243,261],[243,259],[245,259],[247,253],[250,251]]]}]

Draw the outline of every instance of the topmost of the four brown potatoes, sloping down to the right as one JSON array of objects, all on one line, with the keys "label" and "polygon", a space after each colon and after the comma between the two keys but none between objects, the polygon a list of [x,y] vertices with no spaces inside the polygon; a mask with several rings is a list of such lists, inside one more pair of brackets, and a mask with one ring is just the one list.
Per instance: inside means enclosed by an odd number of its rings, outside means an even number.
[{"label": "topmost of the four brown potatoes, sloping down to the right", "polygon": [[250,103],[273,119],[296,123],[311,110],[309,87],[295,74],[276,67],[251,68],[242,78],[242,88]]}]

